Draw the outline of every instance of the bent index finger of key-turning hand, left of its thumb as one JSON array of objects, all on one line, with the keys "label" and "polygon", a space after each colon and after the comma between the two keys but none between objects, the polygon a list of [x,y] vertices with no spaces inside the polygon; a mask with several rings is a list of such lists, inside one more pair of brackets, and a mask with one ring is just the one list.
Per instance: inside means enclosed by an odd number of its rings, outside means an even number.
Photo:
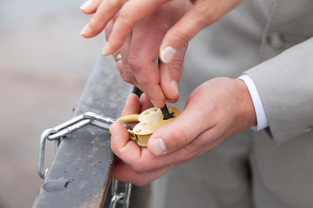
[{"label": "bent index finger of key-turning hand, left of its thumb", "polygon": [[155,60],[167,25],[156,20],[157,16],[152,15],[133,28],[128,64],[133,71],[138,88],[151,99],[155,107],[161,108],[165,104],[166,97],[160,87],[159,69]]}]

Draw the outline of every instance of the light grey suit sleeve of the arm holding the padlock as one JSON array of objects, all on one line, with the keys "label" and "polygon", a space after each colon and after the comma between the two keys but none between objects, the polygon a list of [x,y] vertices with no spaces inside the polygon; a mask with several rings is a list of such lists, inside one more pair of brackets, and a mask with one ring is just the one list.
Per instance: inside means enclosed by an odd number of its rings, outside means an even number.
[{"label": "light grey suit sleeve of the arm holding the padlock", "polygon": [[313,37],[244,74],[255,83],[277,144],[313,129]]}]

